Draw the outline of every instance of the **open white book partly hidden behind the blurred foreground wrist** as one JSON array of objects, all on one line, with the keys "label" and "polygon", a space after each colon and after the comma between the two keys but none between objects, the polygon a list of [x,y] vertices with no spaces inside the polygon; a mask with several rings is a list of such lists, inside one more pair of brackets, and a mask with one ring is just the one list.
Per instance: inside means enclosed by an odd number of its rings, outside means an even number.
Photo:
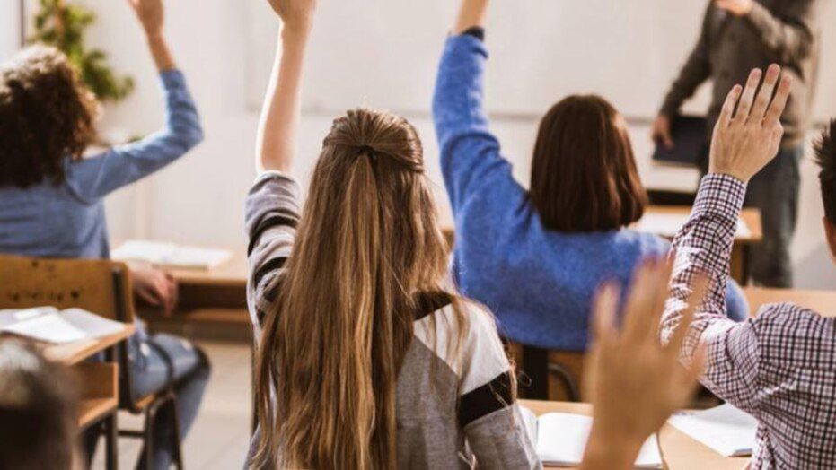
[{"label": "open white book partly hidden behind the blurred foreground wrist", "polygon": [[[592,418],[582,414],[546,413],[540,418],[520,407],[534,449],[544,466],[579,466],[584,459]],[[641,447],[636,468],[662,468],[656,434]]]}]

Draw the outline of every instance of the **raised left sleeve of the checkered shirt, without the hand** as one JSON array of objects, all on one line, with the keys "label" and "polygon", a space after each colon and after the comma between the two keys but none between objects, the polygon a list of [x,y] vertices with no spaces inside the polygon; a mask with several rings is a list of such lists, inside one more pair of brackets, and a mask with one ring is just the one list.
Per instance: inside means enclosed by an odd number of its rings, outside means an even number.
[{"label": "raised left sleeve of the checkered shirt, without the hand", "polygon": [[726,316],[726,284],[737,221],[746,187],[736,178],[710,174],[703,178],[691,218],[673,239],[676,257],[671,292],[662,320],[666,343],[682,320],[682,311],[698,274],[709,277],[709,292],[685,342],[683,361],[698,344],[707,347],[703,385],[726,401],[757,416],[758,338],[750,322]]}]

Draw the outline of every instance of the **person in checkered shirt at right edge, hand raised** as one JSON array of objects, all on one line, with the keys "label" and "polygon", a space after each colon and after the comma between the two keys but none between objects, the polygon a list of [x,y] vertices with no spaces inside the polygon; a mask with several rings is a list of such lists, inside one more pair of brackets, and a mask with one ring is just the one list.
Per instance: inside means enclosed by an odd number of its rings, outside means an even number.
[{"label": "person in checkered shirt at right edge, hand raised", "polygon": [[[735,221],[746,184],[775,158],[783,135],[780,117],[791,80],[779,79],[780,73],[778,65],[770,66],[761,85],[763,74],[756,69],[745,90],[737,85],[726,98],[714,130],[708,176],[700,184],[691,219],[673,242],[677,269],[662,336],[666,340],[673,327],[687,321],[682,318],[682,300],[691,294],[695,275],[708,274],[711,288],[691,323],[683,358],[703,344],[708,369],[702,384],[757,418],[750,468],[834,468],[836,319],[780,303],[762,307],[757,318],[735,323],[724,308]],[[826,235],[836,253],[834,127],[817,150],[823,166]]]}]

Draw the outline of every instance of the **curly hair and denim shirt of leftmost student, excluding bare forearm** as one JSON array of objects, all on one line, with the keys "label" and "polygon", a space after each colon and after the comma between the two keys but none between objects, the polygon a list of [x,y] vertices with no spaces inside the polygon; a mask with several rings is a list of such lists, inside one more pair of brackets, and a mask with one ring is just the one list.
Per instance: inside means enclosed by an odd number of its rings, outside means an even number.
[{"label": "curly hair and denim shirt of leftmost student, excluding bare forearm", "polygon": [[160,170],[202,139],[183,75],[163,70],[160,80],[163,129],[82,158],[92,142],[97,105],[66,57],[54,49],[30,48],[3,69],[0,252],[110,257],[104,196]]}]

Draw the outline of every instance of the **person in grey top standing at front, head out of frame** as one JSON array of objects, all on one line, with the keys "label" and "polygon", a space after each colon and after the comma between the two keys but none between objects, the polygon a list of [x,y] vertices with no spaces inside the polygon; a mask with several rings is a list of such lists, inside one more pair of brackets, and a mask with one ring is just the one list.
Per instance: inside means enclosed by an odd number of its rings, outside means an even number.
[{"label": "person in grey top standing at front, head out of frame", "polygon": [[[752,249],[750,272],[756,284],[791,287],[789,244],[796,230],[799,163],[810,125],[819,65],[823,0],[711,0],[697,46],[682,67],[653,126],[654,139],[673,146],[671,120],[697,87],[714,81],[708,129],[713,129],[726,94],[744,83],[749,71],[771,63],[795,83],[782,118],[786,129],[778,157],[749,183],[746,205],[761,210],[763,241]],[[708,156],[708,152],[705,152]],[[708,170],[708,158],[700,161]]]}]

